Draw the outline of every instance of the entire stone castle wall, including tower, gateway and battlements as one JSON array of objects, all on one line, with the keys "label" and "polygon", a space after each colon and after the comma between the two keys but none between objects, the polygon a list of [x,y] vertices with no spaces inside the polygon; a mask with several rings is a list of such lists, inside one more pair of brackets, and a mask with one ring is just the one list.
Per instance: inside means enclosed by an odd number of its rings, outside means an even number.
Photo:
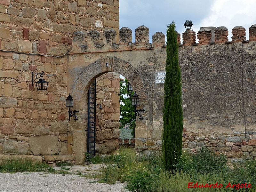
[{"label": "entire stone castle wall, including tower, gateway and battlements", "polygon": [[[164,86],[155,83],[155,76],[165,70],[165,36],[155,33],[151,44],[149,29],[139,26],[132,42],[131,29],[119,30],[118,6],[114,0],[0,0],[0,154],[82,163],[87,92],[102,75],[97,82],[97,103],[104,108],[97,109],[97,150],[107,153],[106,145],[116,148],[119,84],[109,72],[128,79],[140,97],[138,109],[145,110],[143,119],[136,120],[136,147],[161,148]],[[229,161],[247,151],[250,156],[256,152],[256,26],[249,29],[249,40],[243,27],[235,27],[232,34],[228,41],[227,28],[204,27],[198,31],[198,44],[193,30],[183,33],[183,44],[177,37],[183,147],[195,152],[209,147],[226,153]],[[247,132],[241,99],[242,45]],[[44,71],[47,91],[34,89],[32,71]],[[68,121],[68,93],[74,99],[73,110],[79,110],[77,121]]]}]

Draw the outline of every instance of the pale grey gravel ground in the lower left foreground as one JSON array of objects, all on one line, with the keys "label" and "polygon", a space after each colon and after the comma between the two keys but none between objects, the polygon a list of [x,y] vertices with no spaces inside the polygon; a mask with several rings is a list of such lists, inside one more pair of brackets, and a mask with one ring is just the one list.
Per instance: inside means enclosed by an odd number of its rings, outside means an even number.
[{"label": "pale grey gravel ground in the lower left foreground", "polygon": [[124,192],[124,186],[98,183],[73,174],[0,173],[0,192]]}]

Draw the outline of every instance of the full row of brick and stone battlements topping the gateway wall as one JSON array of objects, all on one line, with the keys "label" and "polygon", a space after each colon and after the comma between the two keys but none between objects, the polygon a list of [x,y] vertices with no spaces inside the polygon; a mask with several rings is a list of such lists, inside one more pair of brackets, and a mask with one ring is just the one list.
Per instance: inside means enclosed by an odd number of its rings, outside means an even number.
[{"label": "full row of brick and stone battlements topping the gateway wall", "polygon": [[[182,33],[183,42],[180,44],[180,33],[177,32],[177,42],[179,45],[205,45],[236,43],[246,40],[245,28],[236,26],[232,29],[232,41],[228,41],[228,28],[226,27],[201,27],[197,32],[198,43],[196,43],[196,33],[192,29],[187,29]],[[119,37],[119,39],[118,39]],[[116,40],[117,39],[117,40]],[[256,25],[249,28],[249,41],[256,41]],[[116,43],[118,42],[118,44]],[[135,29],[135,43],[132,43],[132,30],[123,27],[119,34],[113,29],[104,31],[91,30],[87,36],[83,32],[73,34],[73,53],[79,52],[106,52],[124,50],[148,50],[165,45],[165,35],[156,32],[152,36],[152,44],[149,43],[149,29],[142,25]]]}]

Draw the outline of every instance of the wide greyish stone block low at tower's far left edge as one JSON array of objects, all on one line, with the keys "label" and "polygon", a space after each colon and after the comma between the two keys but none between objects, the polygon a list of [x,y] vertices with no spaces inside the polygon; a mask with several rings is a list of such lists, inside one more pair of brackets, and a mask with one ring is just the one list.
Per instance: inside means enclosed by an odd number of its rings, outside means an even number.
[{"label": "wide greyish stone block low at tower's far left edge", "polygon": [[6,140],[3,143],[4,153],[14,153],[19,155],[28,155],[28,143],[17,142],[15,140]]}]

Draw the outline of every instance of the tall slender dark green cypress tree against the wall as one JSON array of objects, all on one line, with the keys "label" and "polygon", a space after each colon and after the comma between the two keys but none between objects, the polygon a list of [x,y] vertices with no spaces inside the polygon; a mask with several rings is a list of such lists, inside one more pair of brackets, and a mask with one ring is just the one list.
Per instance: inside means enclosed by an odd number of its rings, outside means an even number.
[{"label": "tall slender dark green cypress tree against the wall", "polygon": [[175,171],[174,164],[182,153],[183,111],[181,107],[181,73],[175,23],[167,25],[166,76],[164,82],[164,129],[162,132],[163,163]]}]

